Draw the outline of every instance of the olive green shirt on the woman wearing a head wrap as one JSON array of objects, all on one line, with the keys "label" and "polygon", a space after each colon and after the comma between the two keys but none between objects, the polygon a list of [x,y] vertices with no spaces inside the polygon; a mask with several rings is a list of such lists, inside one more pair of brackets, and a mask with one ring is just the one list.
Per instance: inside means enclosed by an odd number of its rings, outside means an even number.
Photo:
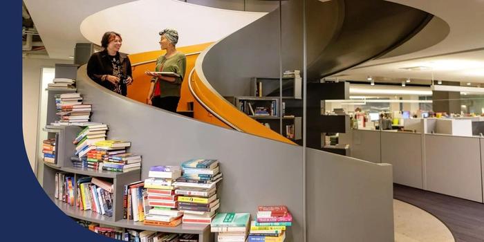
[{"label": "olive green shirt on the woman wearing a head wrap", "polygon": [[181,83],[183,82],[186,68],[187,57],[181,52],[177,52],[175,55],[168,58],[165,57],[165,55],[158,57],[156,60],[155,71],[171,71],[180,75],[180,77],[175,77],[174,83],[158,80],[158,77],[153,77],[151,79],[151,82],[160,82],[160,97],[180,97]]}]

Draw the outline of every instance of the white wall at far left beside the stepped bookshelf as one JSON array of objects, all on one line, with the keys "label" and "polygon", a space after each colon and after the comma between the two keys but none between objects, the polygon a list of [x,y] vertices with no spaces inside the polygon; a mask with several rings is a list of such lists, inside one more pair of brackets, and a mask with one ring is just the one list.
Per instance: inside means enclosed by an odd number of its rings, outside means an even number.
[{"label": "white wall at far left beside the stepped bookshelf", "polygon": [[35,147],[37,146],[37,123],[39,122],[39,101],[41,68],[55,67],[56,63],[73,64],[63,59],[22,58],[22,127],[24,144],[30,167],[35,170]]}]

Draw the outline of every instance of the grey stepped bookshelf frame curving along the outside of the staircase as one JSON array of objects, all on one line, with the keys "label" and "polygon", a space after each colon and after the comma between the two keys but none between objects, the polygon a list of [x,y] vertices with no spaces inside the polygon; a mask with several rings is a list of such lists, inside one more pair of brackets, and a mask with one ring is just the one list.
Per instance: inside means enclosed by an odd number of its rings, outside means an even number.
[{"label": "grey stepped bookshelf frame curving along the outside of the staircase", "polygon": [[[75,79],[77,75],[78,65],[56,65],[55,77]],[[63,93],[75,93],[77,89],[46,89],[48,91],[47,102],[47,119],[46,123],[50,124],[59,119],[56,114],[55,95]],[[127,172],[115,172],[94,170],[80,167],[73,167],[71,156],[75,153],[75,145],[73,140],[82,130],[83,127],[78,126],[55,126],[46,125],[42,130],[46,131],[48,138],[55,138],[55,164],[43,162],[39,163],[41,168],[41,185],[44,192],[48,195],[51,201],[67,216],[81,219],[93,223],[100,223],[102,225],[109,225],[115,227],[122,227],[124,229],[134,230],[149,230],[156,232],[169,232],[178,234],[198,234],[198,241],[209,242],[213,241],[213,235],[210,232],[210,225],[192,225],[180,224],[176,227],[161,227],[144,225],[142,222],[128,221],[123,218],[123,198],[124,185],[142,180],[141,169],[131,170]],[[129,138],[129,137],[127,137]],[[41,140],[39,142],[42,142]],[[67,176],[73,177],[74,184],[77,185],[77,180],[86,176],[95,178],[102,178],[103,180],[113,183],[113,216],[98,214],[93,210],[81,210],[75,205],[55,198],[55,174],[64,172]],[[40,178],[39,178],[40,180]],[[77,199],[77,189],[73,189],[74,198]]]}]

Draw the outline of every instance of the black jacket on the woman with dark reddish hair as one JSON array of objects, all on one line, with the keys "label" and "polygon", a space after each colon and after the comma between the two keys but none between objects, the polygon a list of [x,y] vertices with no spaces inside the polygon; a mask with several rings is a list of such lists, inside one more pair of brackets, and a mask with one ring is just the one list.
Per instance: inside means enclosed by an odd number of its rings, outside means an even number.
[{"label": "black jacket on the woman with dark reddish hair", "polygon": [[[132,78],[131,62],[129,62],[129,58],[124,53],[118,53],[120,55],[119,58],[122,73],[126,77]],[[87,62],[87,75],[106,89],[114,91],[115,86],[111,82],[108,80],[101,80],[102,75],[113,75],[113,65],[111,64],[111,59],[109,59],[107,50],[102,50],[91,55],[89,62]],[[124,96],[127,95],[126,84],[121,83],[121,94]]]}]

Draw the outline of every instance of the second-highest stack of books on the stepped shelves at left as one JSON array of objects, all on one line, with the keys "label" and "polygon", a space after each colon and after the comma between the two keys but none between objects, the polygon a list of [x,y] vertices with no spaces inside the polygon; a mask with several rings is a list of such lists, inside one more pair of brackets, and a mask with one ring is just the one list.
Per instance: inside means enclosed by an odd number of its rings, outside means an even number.
[{"label": "second-highest stack of books on the stepped shelves at left", "polygon": [[91,104],[82,104],[80,93],[64,93],[55,95],[55,104],[59,121],[54,125],[80,125],[89,122]]}]

